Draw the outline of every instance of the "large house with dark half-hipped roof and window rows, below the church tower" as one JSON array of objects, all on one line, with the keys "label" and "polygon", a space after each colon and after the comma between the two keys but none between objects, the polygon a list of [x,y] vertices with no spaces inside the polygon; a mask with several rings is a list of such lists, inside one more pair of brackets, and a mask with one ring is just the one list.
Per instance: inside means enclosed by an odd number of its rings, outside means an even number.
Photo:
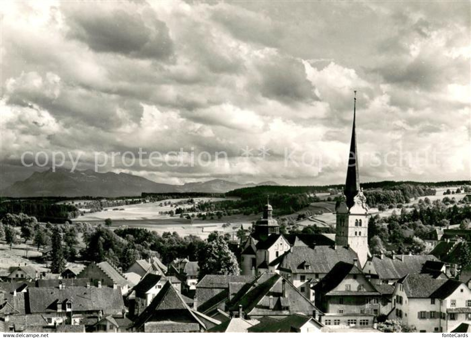
[{"label": "large house with dark half-hipped roof and window rows, below the church tower", "polygon": [[[323,324],[373,327],[374,317],[387,307],[374,285],[356,264],[339,262],[314,286]],[[384,311],[385,312],[385,311]],[[383,313],[384,313],[383,312]]]}]

